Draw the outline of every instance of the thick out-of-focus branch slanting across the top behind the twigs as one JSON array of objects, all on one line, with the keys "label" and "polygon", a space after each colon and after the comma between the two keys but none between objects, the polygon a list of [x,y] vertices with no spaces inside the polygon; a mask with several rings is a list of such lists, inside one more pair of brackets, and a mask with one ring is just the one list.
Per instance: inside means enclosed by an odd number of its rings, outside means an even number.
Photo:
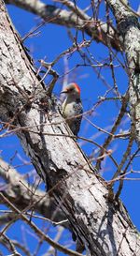
[{"label": "thick out-of-focus branch slanting across the top behind the twigs", "polygon": [[[73,7],[71,11],[67,11],[66,9],[56,8],[53,5],[45,5],[39,0],[6,0],[5,2],[40,16],[46,23],[75,27],[85,32],[88,36],[96,40],[96,42],[102,42],[107,45],[109,40],[114,49],[122,51],[121,40],[113,25],[103,23],[100,20],[96,22],[79,8]],[[63,5],[66,5],[66,3],[63,2]]]}]

